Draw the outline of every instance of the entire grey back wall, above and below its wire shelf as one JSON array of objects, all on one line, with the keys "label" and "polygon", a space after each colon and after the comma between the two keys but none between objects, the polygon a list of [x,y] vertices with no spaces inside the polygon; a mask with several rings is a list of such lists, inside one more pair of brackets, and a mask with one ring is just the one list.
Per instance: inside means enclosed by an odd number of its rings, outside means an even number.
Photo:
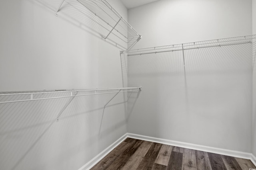
[{"label": "entire grey back wall, above and below its wire shelf", "polygon": [[[252,33],[251,1],[161,0],[128,10],[152,47]],[[135,47],[135,48],[136,48]],[[143,90],[128,132],[251,152],[251,44],[128,57],[128,86]]]}]

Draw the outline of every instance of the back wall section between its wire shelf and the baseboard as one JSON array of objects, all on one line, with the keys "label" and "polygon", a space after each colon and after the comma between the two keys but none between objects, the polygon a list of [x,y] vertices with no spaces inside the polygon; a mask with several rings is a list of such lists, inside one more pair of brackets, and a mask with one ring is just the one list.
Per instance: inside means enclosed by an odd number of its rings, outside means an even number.
[{"label": "back wall section between its wire shelf and the baseboard", "polygon": [[[225,135],[243,143],[240,134],[250,131],[252,44],[185,50],[184,59],[185,67],[182,51],[128,56],[128,86],[143,87],[128,132],[220,148],[230,146]],[[197,141],[206,131],[212,135]]]}]

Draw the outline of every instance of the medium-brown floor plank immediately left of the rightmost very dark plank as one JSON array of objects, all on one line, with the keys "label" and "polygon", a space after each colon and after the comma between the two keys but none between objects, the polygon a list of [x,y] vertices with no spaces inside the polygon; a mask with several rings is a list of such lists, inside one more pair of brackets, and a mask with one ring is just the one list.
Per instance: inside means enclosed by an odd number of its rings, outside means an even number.
[{"label": "medium-brown floor plank immediately left of the rightmost very dark plank", "polygon": [[196,167],[198,170],[212,170],[207,152],[196,150]]}]

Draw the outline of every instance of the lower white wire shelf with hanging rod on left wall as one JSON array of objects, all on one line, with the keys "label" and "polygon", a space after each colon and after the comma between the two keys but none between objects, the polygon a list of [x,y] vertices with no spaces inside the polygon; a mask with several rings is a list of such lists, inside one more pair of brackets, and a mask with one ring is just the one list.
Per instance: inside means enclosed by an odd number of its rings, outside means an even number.
[{"label": "lower white wire shelf with hanging rod on left wall", "polygon": [[141,89],[142,89],[142,87],[93,89],[93,90],[0,92],[0,104],[15,103],[15,102],[27,102],[27,101],[35,101],[35,100],[58,99],[58,98],[74,98],[74,97],[78,97],[78,96],[92,96],[92,95],[112,94],[112,93],[115,93],[117,95],[120,92],[134,92],[134,91],[140,91]]}]

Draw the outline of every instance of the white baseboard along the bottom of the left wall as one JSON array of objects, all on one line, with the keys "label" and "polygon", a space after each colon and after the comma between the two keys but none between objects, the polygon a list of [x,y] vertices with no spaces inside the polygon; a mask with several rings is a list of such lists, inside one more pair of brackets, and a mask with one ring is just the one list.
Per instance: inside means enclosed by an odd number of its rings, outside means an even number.
[{"label": "white baseboard along the bottom of the left wall", "polygon": [[79,168],[78,170],[90,170],[94,165],[96,165],[102,158],[104,158],[109,152],[111,152],[113,149],[115,149],[120,143],[122,143],[127,138],[127,133],[124,134],[122,137],[117,139],[112,145],[104,149],[102,152],[100,152],[97,156],[92,158],[89,162],[87,162],[84,166]]}]

